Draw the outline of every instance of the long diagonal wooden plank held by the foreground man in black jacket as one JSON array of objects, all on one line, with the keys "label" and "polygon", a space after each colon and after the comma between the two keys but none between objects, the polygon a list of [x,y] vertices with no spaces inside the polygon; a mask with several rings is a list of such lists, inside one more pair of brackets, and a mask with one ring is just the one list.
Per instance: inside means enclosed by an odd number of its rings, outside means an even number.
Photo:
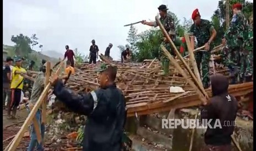
[{"label": "long diagonal wooden plank held by the foreground man in black jacket", "polygon": [[[61,62],[61,66],[57,69],[56,74],[59,74],[60,69],[63,66],[63,62]],[[35,106],[32,108],[32,110],[30,111],[28,118],[26,118],[24,124],[21,126],[19,132],[17,133],[17,136],[14,138],[12,144],[10,145],[8,151],[14,151],[17,146],[19,145],[21,138],[23,137],[23,134],[26,130],[26,128],[29,126],[29,124],[31,123],[32,119],[35,117],[35,114],[37,112],[37,110],[39,109],[39,107],[41,106],[42,102],[44,101],[44,98],[46,97],[49,89],[50,89],[51,85],[50,83],[48,83],[45,87],[45,89],[43,89],[43,92],[41,94],[41,96],[39,97],[39,100],[36,102]]]}]

